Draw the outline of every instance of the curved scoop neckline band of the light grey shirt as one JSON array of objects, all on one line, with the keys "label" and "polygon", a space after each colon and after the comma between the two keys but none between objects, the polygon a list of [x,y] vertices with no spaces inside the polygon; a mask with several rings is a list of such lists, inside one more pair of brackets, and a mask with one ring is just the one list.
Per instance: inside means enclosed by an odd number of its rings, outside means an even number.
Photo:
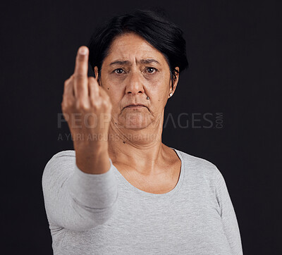
[{"label": "curved scoop neckline band of the light grey shirt", "polygon": [[128,187],[130,190],[132,190],[133,192],[135,192],[136,194],[142,196],[142,197],[150,197],[150,198],[167,198],[167,197],[171,197],[173,194],[175,194],[176,192],[178,192],[178,190],[180,189],[182,183],[183,183],[183,179],[184,179],[184,160],[183,160],[183,156],[180,154],[180,151],[178,151],[177,149],[174,149],[172,147],[170,147],[171,149],[173,149],[173,151],[176,152],[178,158],[180,158],[181,161],[181,167],[180,167],[180,176],[178,178],[178,182],[176,184],[176,186],[171,189],[171,191],[163,193],[163,194],[154,194],[154,193],[149,193],[149,192],[145,192],[141,189],[138,189],[137,187],[133,186],[130,182],[128,182],[128,180],[126,180],[123,175],[118,171],[118,169],[114,166],[114,171],[116,173],[116,175],[118,176],[119,180],[121,180],[121,182],[123,182],[123,184]]}]

